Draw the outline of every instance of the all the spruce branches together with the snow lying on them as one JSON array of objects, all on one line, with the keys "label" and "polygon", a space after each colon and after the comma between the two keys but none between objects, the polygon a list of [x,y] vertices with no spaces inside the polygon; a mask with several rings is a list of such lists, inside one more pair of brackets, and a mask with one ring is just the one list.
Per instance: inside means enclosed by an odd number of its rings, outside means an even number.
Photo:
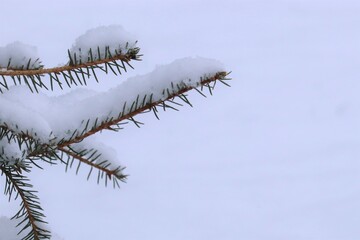
[{"label": "all the spruce branches together with the snow lying on them", "polygon": [[[23,176],[39,162],[62,162],[66,169],[81,165],[98,172],[98,183],[112,181],[119,187],[125,181],[124,167],[107,147],[88,137],[102,130],[118,131],[128,121],[137,126],[135,117],[159,108],[175,109],[191,105],[186,92],[212,94],[218,82],[229,86],[228,72],[216,60],[183,58],[157,66],[148,74],[135,76],[119,86],[98,93],[76,90],[57,97],[39,92],[39,88],[61,89],[66,84],[86,85],[97,72],[120,75],[132,60],[140,60],[135,38],[122,27],[99,27],[80,36],[68,50],[68,63],[44,68],[36,49],[21,43],[0,48],[0,172],[5,175],[5,194],[20,196],[23,239],[48,239],[44,214],[32,185]],[[47,77],[47,81],[44,78]],[[30,91],[29,91],[30,90]],[[36,94],[34,94],[36,92]],[[20,232],[21,232],[20,231]]]}]

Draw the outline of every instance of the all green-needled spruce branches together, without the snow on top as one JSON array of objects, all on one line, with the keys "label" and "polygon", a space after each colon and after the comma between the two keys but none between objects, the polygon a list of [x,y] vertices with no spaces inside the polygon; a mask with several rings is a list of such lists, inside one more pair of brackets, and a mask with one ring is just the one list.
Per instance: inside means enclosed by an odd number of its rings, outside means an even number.
[{"label": "all green-needled spruce branches together, without the snow on top", "polygon": [[[130,61],[141,60],[140,48],[135,47],[135,44],[131,45],[132,47],[126,44],[125,51],[111,52],[108,46],[105,46],[104,49],[100,49],[100,47],[95,50],[90,49],[85,55],[87,56],[85,61],[83,56],[80,57],[76,53],[68,51],[68,63],[54,68],[44,68],[39,59],[36,61],[29,59],[26,65],[14,68],[10,66],[17,65],[11,64],[11,59],[9,59],[7,68],[0,66],[0,92],[8,90],[10,84],[26,85],[31,92],[38,92],[40,88],[53,90],[55,86],[63,89],[64,85],[67,87],[86,85],[90,78],[94,78],[98,82],[98,72],[120,75],[129,67],[133,68]],[[81,54],[81,51],[78,52]],[[21,153],[17,155],[16,159],[9,159],[5,149],[0,149],[0,172],[6,179],[4,193],[9,196],[9,201],[14,194],[15,199],[19,198],[21,201],[20,210],[13,218],[20,220],[19,234],[26,232],[23,240],[49,239],[51,237],[50,231],[44,227],[45,215],[36,191],[33,190],[29,179],[23,173],[29,172],[33,166],[42,168],[39,164],[41,162],[49,164],[61,162],[65,164],[66,170],[76,168],[76,173],[79,172],[82,165],[86,165],[89,168],[87,179],[93,175],[95,170],[98,183],[102,181],[107,186],[112,181],[114,187],[119,187],[119,182],[124,182],[127,177],[123,174],[124,167],[114,166],[112,160],[104,157],[101,150],[79,147],[79,143],[102,130],[119,131],[127,122],[132,122],[139,127],[142,123],[135,119],[138,114],[152,112],[156,118],[159,118],[159,109],[178,110],[178,107],[184,104],[192,106],[186,95],[188,91],[195,90],[204,97],[206,97],[206,93],[212,95],[218,82],[229,86],[228,75],[228,72],[217,72],[212,75],[204,75],[200,80],[184,79],[179,83],[171,82],[171,87],[162,89],[161,98],[155,98],[151,92],[145,95],[135,95],[136,99],[121,104],[115,115],[109,113],[108,117],[101,119],[83,119],[78,123],[80,126],[78,129],[67,129],[66,137],[60,138],[51,135],[49,136],[51,139],[41,140],[36,135],[36,131],[20,130],[21,128],[16,124],[1,123],[0,142],[5,141],[3,146],[12,144],[14,147],[16,145],[17,153]],[[111,111],[109,110],[109,112]]]}]

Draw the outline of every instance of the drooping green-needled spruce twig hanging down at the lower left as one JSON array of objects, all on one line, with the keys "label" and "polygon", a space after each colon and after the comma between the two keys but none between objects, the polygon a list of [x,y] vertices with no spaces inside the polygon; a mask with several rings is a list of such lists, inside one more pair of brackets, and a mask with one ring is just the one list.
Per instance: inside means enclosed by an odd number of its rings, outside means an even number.
[{"label": "drooping green-needled spruce twig hanging down at the lower left", "polygon": [[[9,200],[14,192],[16,192],[15,199],[19,196],[21,198],[21,208],[12,219],[22,218],[17,226],[22,225],[24,222],[27,223],[18,234],[21,234],[23,231],[30,228],[30,231],[22,238],[22,240],[50,239],[50,231],[42,227],[42,225],[46,223],[43,220],[45,215],[42,213],[43,209],[40,207],[39,198],[35,195],[36,191],[31,190],[33,185],[28,183],[28,178],[20,174],[21,170],[11,171],[13,169],[14,168],[0,166],[2,175],[4,174],[6,177],[5,194],[9,195]],[[29,171],[25,167],[22,169]]]}]

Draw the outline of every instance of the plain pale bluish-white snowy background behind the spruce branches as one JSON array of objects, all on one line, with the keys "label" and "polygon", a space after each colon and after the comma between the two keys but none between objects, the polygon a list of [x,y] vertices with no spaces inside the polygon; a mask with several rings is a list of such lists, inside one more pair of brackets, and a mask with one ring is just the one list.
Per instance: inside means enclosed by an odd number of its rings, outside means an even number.
[{"label": "plain pale bluish-white snowy background behind the spruce branches", "polygon": [[[233,71],[232,88],[191,94],[194,108],[101,135],[127,166],[120,190],[87,182],[86,168],[80,176],[61,165],[34,170],[58,239],[360,238],[358,1],[34,0],[1,8],[0,46],[35,45],[46,66],[65,63],[87,29],[121,24],[144,53],[121,79],[187,56]],[[121,79],[90,87],[105,91]],[[0,206],[0,216],[18,209],[3,196]],[[0,239],[8,240],[4,219]]]}]

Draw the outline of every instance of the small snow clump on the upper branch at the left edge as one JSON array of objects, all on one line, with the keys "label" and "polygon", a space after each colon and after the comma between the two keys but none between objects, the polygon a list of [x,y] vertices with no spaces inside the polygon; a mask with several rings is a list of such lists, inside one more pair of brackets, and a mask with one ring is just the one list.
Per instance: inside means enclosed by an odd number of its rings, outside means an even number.
[{"label": "small snow clump on the upper branch at the left edge", "polygon": [[[10,61],[10,65],[9,65]],[[39,55],[34,46],[13,42],[0,47],[0,69],[37,69],[40,67]]]}]

